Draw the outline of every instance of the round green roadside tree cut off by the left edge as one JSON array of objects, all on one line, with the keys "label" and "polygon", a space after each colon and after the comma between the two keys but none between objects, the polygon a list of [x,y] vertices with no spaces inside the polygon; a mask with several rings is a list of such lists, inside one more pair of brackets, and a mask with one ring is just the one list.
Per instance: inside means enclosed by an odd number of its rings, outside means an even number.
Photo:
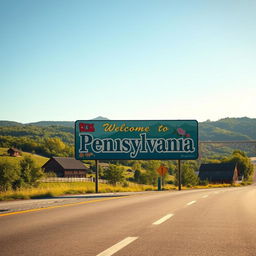
[{"label": "round green roadside tree cut off by the left edge", "polygon": [[0,191],[12,189],[19,178],[20,171],[17,165],[7,160],[0,162]]}]

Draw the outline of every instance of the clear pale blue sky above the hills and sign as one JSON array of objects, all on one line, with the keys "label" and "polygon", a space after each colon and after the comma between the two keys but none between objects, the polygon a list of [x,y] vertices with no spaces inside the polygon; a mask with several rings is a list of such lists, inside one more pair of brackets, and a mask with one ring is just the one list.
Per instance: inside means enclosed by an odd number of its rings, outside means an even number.
[{"label": "clear pale blue sky above the hills and sign", "polygon": [[255,0],[0,0],[0,120],[256,109]]}]

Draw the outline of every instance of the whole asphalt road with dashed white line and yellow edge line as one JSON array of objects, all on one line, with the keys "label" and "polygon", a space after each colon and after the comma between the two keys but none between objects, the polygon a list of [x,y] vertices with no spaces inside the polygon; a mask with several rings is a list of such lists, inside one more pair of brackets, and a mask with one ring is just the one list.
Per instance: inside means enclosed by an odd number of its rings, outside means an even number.
[{"label": "whole asphalt road with dashed white line and yellow edge line", "polygon": [[66,199],[2,211],[0,255],[256,255],[255,185]]}]

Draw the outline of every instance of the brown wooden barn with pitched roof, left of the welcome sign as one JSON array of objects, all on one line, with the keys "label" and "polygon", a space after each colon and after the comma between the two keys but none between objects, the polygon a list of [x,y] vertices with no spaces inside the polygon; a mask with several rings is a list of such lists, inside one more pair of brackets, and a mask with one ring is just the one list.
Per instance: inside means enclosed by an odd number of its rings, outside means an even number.
[{"label": "brown wooden barn with pitched roof, left of the welcome sign", "polygon": [[52,157],[43,166],[46,173],[55,173],[57,177],[85,178],[87,168],[72,157]]}]

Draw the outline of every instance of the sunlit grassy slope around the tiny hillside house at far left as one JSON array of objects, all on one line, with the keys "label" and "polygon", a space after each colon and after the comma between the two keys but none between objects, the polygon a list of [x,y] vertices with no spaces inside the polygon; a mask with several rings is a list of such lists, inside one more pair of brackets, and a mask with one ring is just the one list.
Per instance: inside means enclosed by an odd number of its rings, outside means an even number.
[{"label": "sunlit grassy slope around the tiny hillside house at far left", "polygon": [[35,161],[37,167],[42,167],[49,160],[49,158],[47,157],[43,157],[43,156],[39,156],[36,154],[27,153],[27,152],[22,152],[22,156],[20,157],[13,157],[8,155],[7,150],[8,148],[0,148],[0,161],[8,160],[15,164],[18,164],[22,159],[24,159],[25,156],[30,156]]}]

